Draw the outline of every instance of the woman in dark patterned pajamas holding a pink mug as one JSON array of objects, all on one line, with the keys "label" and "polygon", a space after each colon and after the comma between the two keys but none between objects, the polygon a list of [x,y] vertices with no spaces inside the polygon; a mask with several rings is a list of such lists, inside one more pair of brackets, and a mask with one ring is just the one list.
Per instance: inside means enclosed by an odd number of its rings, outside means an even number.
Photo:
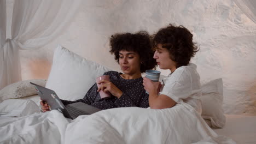
[{"label": "woman in dark patterned pajamas holding a pink mug", "polygon": [[[83,102],[99,109],[111,109],[115,107],[149,107],[148,94],[143,88],[141,73],[147,69],[155,68],[156,61],[153,58],[154,51],[149,34],[144,31],[122,33],[112,35],[110,38],[110,53],[114,53],[123,73],[107,71],[103,75],[109,75],[109,81],[102,80],[100,88],[95,83],[86,93],[83,99],[68,101],[61,100],[64,105]],[[99,91],[110,92],[112,97],[101,99]],[[42,111],[48,111],[49,107],[41,101]]]}]

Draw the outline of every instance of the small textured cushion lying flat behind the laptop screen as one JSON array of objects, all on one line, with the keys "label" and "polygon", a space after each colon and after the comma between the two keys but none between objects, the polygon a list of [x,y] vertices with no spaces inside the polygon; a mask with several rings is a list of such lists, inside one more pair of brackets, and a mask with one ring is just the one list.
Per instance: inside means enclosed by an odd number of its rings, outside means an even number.
[{"label": "small textured cushion lying flat behind the laptop screen", "polygon": [[30,82],[36,83],[40,86],[45,86],[46,80],[33,79],[11,83],[10,85],[1,89],[0,102],[5,99],[16,99],[37,94],[34,86],[31,85]]}]

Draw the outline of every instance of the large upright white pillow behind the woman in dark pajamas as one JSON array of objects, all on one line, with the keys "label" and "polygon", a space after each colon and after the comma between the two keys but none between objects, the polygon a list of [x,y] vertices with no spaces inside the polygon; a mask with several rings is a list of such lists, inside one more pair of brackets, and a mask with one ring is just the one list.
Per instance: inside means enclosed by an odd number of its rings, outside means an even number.
[{"label": "large upright white pillow behind the woman in dark pajamas", "polygon": [[109,70],[58,45],[45,87],[53,89],[60,99],[82,99],[95,78]]}]

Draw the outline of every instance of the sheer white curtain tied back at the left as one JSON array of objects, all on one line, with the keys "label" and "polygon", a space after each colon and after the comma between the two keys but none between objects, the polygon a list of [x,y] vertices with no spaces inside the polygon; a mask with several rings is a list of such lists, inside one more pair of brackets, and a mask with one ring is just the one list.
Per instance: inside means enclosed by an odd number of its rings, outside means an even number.
[{"label": "sheer white curtain tied back at the left", "polygon": [[19,49],[35,50],[54,40],[79,9],[80,0],[15,0],[11,39],[6,39],[6,6],[0,0],[0,89],[21,80]]}]

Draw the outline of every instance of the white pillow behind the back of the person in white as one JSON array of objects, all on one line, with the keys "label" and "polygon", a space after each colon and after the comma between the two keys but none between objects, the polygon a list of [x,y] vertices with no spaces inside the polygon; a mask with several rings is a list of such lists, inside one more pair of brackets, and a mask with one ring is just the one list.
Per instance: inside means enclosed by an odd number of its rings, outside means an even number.
[{"label": "white pillow behind the back of the person in white", "polygon": [[222,79],[212,80],[202,85],[202,117],[212,128],[223,128],[226,122],[223,104]]}]

